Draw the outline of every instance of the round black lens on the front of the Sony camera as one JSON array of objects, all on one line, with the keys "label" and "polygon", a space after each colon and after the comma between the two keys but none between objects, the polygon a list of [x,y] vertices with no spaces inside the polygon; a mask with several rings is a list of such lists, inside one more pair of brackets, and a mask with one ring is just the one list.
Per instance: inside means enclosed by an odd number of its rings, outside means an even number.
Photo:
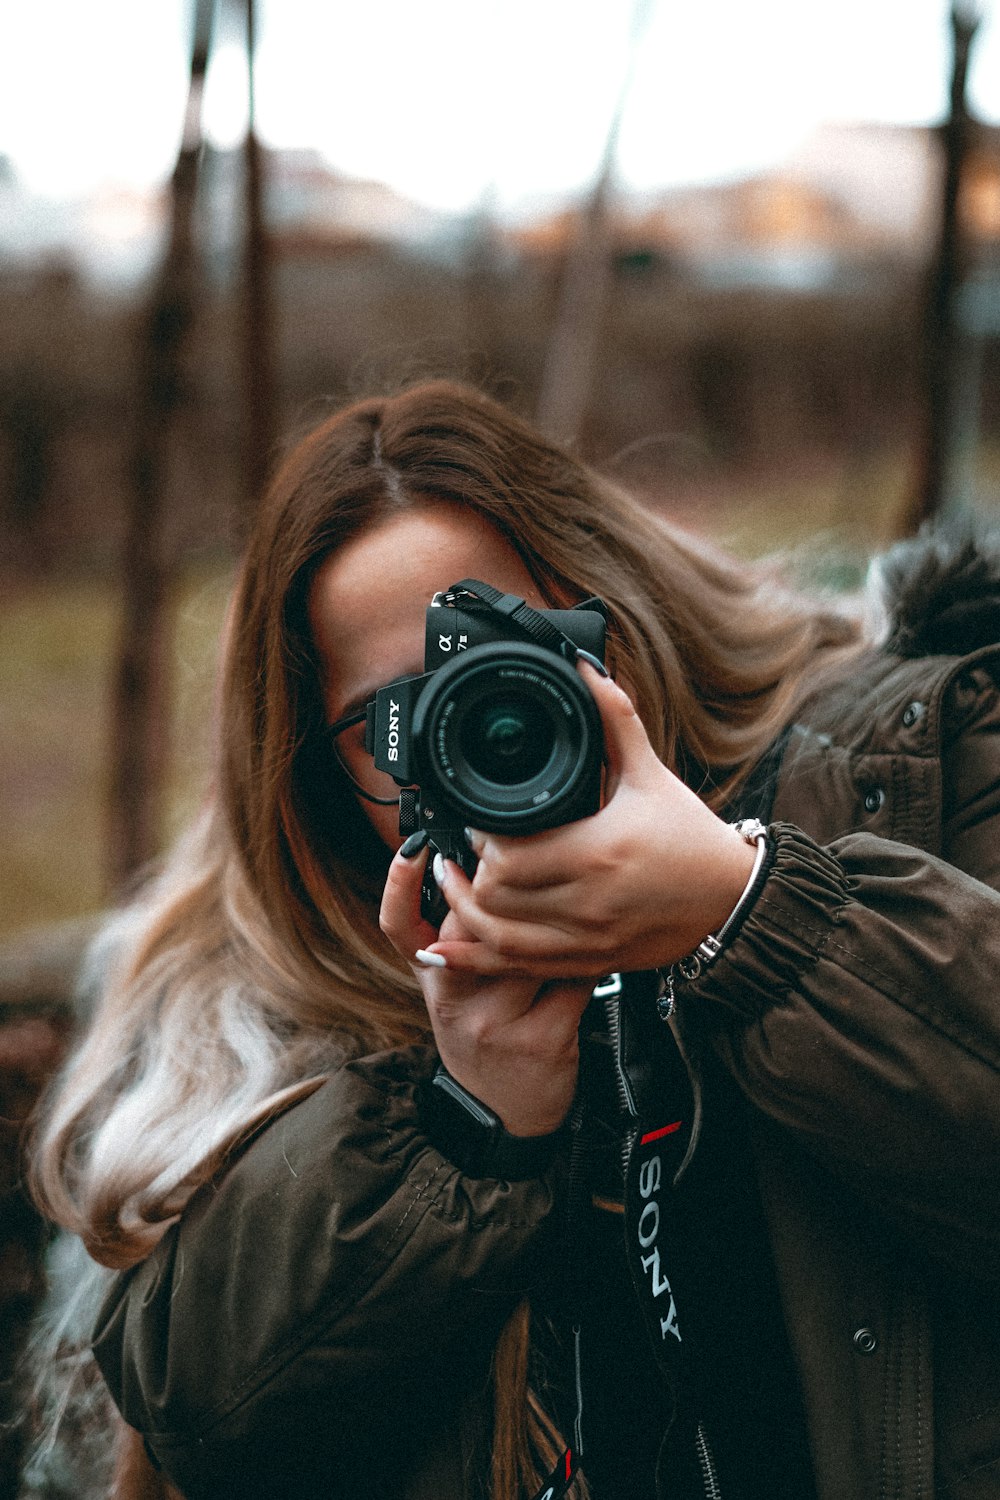
[{"label": "round black lens on the front of the Sony camera", "polygon": [[424,804],[486,832],[537,832],[600,806],[594,698],[576,668],[528,642],[472,646],[433,672],[412,754]]}]

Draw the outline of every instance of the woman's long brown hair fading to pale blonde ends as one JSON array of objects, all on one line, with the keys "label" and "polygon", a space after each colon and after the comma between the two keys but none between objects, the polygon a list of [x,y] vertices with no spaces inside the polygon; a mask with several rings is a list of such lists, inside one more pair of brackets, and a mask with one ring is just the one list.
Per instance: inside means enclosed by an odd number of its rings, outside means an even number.
[{"label": "woman's long brown hair fading to pale blonde ends", "polygon": [[[331,758],[307,628],[319,562],[429,501],[483,514],[546,597],[606,600],[657,753],[712,806],[817,669],[856,650],[852,618],[684,536],[465,387],[424,382],[325,420],[255,519],[205,810],[118,920],[100,1004],[39,1126],[36,1196],[106,1266],[144,1258],[234,1142],[343,1056],[429,1040],[378,928],[388,855]],[[498,1374],[508,1407],[525,1380],[516,1326]],[[498,1497],[526,1464],[499,1461]]]}]

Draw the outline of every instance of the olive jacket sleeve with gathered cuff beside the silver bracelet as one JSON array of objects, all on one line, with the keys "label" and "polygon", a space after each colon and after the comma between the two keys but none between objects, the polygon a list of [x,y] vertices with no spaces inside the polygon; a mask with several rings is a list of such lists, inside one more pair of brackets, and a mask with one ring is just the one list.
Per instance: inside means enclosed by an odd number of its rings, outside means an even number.
[{"label": "olive jacket sleeve with gathered cuff beside the silver bracelet", "polygon": [[[916,1246],[1000,1281],[1000,705],[955,688],[943,849],[778,824],[771,873],[697,981],[751,1104]],[[951,860],[955,862],[952,864]],[[960,864],[964,868],[960,868]],[[694,994],[687,1004],[694,1004]]]}]

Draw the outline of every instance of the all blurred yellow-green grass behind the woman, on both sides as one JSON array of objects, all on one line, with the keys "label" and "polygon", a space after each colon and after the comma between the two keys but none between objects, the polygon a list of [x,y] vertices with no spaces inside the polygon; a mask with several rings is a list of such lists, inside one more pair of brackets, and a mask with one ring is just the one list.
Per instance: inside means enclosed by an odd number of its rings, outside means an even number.
[{"label": "all blurred yellow-green grass behind the woman, on both sides", "polygon": [[[903,464],[880,460],[853,476],[850,489],[843,470],[771,480],[688,501],[678,519],[742,555],[790,550],[811,580],[852,588],[891,537],[906,480]],[[216,556],[189,567],[174,588],[163,844],[205,786],[231,579],[232,566]],[[0,938],[108,900],[117,615],[114,582],[100,578],[25,582],[0,606]]]}]

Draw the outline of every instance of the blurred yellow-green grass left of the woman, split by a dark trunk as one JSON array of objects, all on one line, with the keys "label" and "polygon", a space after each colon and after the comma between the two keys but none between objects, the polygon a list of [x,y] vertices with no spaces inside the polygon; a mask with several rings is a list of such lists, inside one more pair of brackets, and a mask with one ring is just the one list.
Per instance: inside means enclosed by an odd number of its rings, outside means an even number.
[{"label": "blurred yellow-green grass left of the woman, split by a dark trunk", "polygon": [[[163,842],[193,812],[210,759],[213,680],[231,572],[175,585]],[[99,578],[25,585],[0,615],[0,936],[106,902],[111,698],[118,609]]]}]

